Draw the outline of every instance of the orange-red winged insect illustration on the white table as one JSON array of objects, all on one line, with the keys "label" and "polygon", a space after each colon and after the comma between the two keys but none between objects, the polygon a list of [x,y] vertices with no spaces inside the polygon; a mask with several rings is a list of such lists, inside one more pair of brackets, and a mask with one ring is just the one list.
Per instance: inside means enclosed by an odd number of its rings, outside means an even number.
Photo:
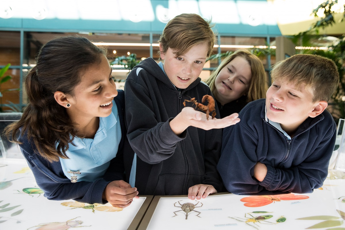
[{"label": "orange-red winged insect illustration on the white table", "polygon": [[308,196],[290,194],[272,195],[272,196],[249,196],[240,199],[246,207],[261,207],[280,200],[303,200],[308,199]]}]

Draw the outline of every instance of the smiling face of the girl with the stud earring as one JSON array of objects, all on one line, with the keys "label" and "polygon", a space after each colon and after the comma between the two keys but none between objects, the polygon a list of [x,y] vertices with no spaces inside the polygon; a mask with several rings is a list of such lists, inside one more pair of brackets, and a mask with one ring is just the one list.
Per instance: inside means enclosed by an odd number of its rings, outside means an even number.
[{"label": "smiling face of the girl with the stud earring", "polygon": [[107,117],[111,113],[117,90],[108,59],[101,55],[101,62],[85,70],[80,76],[80,83],[74,88],[74,95],[67,97],[71,104],[67,109],[71,119],[90,120]]}]

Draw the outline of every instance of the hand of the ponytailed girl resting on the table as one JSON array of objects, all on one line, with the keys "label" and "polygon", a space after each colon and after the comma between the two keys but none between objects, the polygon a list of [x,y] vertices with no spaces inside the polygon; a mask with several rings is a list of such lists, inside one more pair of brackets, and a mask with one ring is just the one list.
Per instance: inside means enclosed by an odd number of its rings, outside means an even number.
[{"label": "hand of the ponytailed girl resting on the table", "polygon": [[103,200],[107,200],[112,206],[126,208],[133,198],[139,198],[137,188],[132,188],[123,180],[111,181],[103,191]]}]

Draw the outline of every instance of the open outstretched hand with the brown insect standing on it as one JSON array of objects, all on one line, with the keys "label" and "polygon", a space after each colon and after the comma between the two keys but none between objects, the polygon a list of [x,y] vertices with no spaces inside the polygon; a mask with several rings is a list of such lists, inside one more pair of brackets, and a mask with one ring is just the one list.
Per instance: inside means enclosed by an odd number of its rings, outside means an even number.
[{"label": "open outstretched hand with the brown insect standing on it", "polygon": [[195,110],[192,107],[185,107],[177,116],[170,121],[170,128],[176,134],[180,135],[189,126],[194,126],[204,130],[222,129],[240,121],[238,113],[233,113],[222,119],[206,118],[206,113]]}]

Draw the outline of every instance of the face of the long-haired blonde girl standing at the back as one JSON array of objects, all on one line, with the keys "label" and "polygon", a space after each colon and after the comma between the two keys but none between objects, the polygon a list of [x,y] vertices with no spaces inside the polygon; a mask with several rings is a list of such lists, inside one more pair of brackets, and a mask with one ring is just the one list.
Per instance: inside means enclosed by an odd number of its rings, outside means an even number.
[{"label": "face of the long-haired blonde girl standing at the back", "polygon": [[222,104],[237,100],[247,93],[252,80],[249,63],[242,57],[231,60],[215,79],[215,98]]}]

